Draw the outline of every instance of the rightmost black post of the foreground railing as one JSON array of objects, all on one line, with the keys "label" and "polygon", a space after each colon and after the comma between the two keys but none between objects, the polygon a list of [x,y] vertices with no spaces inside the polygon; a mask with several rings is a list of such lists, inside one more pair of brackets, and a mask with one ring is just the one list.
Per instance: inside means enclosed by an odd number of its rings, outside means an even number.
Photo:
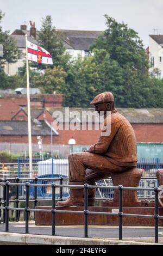
[{"label": "rightmost black post of the foreground railing", "polygon": [[154,237],[155,243],[159,242],[159,215],[158,215],[158,197],[159,197],[159,188],[154,187],[155,193],[155,204],[154,204]]}]

